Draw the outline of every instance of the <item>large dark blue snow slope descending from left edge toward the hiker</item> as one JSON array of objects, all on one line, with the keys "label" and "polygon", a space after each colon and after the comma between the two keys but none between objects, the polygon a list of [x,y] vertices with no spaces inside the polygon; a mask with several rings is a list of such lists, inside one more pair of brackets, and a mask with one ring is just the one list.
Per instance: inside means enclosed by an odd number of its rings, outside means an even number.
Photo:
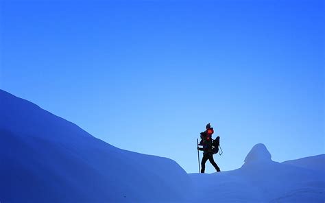
[{"label": "large dark blue snow slope descending from left edge toward the hiker", "polygon": [[120,150],[0,90],[0,202],[169,202],[189,176],[175,161]]}]

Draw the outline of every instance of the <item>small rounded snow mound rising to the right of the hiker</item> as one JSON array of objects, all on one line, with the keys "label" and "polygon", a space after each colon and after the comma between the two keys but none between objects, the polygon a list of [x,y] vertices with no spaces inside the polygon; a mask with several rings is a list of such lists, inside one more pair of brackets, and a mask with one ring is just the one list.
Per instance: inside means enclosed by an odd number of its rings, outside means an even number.
[{"label": "small rounded snow mound rising to the right of the hiker", "polygon": [[245,164],[251,164],[251,163],[260,163],[260,162],[272,162],[271,154],[269,153],[269,150],[265,147],[264,144],[259,143],[256,144],[252,150],[247,154],[245,160]]}]

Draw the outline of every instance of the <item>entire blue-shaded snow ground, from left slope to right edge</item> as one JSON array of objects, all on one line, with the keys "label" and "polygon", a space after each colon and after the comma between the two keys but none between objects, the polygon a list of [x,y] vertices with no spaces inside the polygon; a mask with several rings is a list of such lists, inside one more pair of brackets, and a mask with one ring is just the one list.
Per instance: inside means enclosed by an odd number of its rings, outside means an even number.
[{"label": "entire blue-shaded snow ground, from left slope to right edge", "polygon": [[1,203],[325,202],[325,154],[278,163],[260,143],[239,169],[186,174],[1,90],[0,112]]}]

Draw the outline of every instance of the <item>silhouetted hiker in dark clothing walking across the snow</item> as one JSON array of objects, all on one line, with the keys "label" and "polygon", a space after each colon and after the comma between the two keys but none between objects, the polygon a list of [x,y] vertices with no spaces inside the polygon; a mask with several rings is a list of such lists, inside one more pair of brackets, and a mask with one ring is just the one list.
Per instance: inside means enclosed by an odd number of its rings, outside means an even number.
[{"label": "silhouetted hiker in dark clothing walking across the snow", "polygon": [[201,161],[201,173],[204,174],[205,168],[206,168],[206,161],[209,160],[210,163],[215,167],[216,171],[219,172],[220,169],[215,163],[215,160],[213,160],[213,142],[212,142],[212,134],[213,134],[213,128],[211,128],[210,123],[206,125],[206,131],[201,132],[201,142],[200,145],[203,146],[203,148],[200,148],[197,146],[197,150],[203,151],[203,158]]}]

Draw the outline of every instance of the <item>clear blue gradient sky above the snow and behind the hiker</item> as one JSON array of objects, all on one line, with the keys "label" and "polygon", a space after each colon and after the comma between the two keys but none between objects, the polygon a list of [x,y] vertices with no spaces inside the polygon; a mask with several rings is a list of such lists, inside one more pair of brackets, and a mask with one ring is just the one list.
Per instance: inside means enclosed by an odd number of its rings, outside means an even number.
[{"label": "clear blue gradient sky above the snow and behind the hiker", "polygon": [[0,5],[0,88],[107,143],[189,173],[208,122],[221,170],[256,143],[276,161],[325,153],[324,1]]}]

